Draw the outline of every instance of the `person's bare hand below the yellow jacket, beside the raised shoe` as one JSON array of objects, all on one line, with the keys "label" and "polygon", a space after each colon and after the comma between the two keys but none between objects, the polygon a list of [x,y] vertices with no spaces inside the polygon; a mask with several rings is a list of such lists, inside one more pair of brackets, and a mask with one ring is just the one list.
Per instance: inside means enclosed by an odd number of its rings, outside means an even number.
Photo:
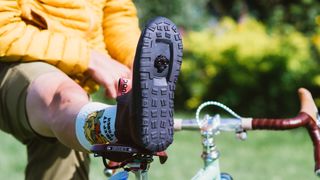
[{"label": "person's bare hand below the yellow jacket, beside the raised shoe", "polygon": [[106,96],[109,98],[116,98],[120,78],[131,78],[131,71],[128,67],[95,50],[91,51],[88,72],[97,83],[105,88]]}]

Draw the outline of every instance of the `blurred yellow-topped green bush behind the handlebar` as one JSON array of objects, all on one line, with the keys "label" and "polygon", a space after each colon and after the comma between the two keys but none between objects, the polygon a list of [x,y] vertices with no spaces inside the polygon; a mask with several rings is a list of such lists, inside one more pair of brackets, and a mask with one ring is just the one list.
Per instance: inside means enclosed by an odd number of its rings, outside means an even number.
[{"label": "blurred yellow-topped green bush behind the handlebar", "polygon": [[214,27],[188,32],[184,45],[176,96],[180,108],[217,100],[243,116],[286,116],[298,111],[299,87],[319,96],[310,41],[294,28],[268,32],[253,18],[241,23],[224,18]]}]

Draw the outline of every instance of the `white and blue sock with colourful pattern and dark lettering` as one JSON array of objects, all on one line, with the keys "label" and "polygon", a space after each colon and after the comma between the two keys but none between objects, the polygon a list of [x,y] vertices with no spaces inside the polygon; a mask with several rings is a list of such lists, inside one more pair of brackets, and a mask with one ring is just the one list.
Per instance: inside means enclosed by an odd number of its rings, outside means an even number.
[{"label": "white and blue sock with colourful pattern and dark lettering", "polygon": [[80,144],[91,150],[93,144],[114,143],[117,106],[90,102],[76,118],[76,136]]}]

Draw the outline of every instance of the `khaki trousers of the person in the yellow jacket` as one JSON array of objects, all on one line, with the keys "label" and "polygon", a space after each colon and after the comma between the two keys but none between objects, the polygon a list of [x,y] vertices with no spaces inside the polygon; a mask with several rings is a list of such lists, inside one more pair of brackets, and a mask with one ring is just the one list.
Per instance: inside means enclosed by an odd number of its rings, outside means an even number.
[{"label": "khaki trousers of the person in the yellow jacket", "polygon": [[0,64],[0,129],[27,146],[26,179],[88,179],[89,156],[32,130],[26,114],[29,84],[59,71],[43,62]]}]

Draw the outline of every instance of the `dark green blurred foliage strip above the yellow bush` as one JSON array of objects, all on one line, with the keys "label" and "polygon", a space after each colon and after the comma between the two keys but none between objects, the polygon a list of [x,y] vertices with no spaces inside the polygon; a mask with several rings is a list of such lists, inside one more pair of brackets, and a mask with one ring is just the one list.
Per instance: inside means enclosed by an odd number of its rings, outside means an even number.
[{"label": "dark green blurred foliage strip above the yellow bush", "polygon": [[315,18],[320,14],[318,0],[136,0],[135,4],[142,24],[152,17],[165,16],[186,29],[203,28],[220,17],[239,20],[251,15],[271,28],[290,24],[301,32],[313,33]]}]

